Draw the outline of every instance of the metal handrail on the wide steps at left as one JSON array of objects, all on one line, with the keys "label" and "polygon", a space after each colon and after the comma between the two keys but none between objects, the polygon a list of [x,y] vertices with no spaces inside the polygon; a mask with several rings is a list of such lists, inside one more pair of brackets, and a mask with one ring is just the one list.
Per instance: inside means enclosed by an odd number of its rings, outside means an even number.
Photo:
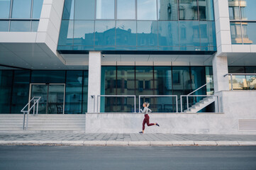
[{"label": "metal handrail on the wide steps at left", "polygon": [[[33,115],[35,115],[35,107],[36,107],[36,115],[38,115],[38,102],[40,101],[41,96],[34,96],[24,108],[21,110],[23,112],[23,130],[25,129],[25,120],[26,120],[26,130],[28,129],[28,114],[33,109]],[[30,106],[30,103],[33,101],[33,105]],[[25,111],[25,108],[28,107],[28,110]],[[26,119],[27,115],[27,119]]]}]

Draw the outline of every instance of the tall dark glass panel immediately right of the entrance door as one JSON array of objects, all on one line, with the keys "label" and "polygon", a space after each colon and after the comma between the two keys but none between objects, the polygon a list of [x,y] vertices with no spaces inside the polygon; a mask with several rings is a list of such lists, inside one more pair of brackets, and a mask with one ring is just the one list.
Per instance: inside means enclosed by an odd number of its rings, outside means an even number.
[{"label": "tall dark glass panel immediately right of the entrance door", "polygon": [[82,71],[67,71],[65,113],[82,113]]}]

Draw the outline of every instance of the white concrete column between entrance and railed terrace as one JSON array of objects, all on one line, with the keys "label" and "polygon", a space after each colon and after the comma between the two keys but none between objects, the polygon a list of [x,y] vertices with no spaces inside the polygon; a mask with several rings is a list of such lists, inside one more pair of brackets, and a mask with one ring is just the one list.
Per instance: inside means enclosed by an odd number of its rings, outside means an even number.
[{"label": "white concrete column between entrance and railed terrace", "polygon": [[[101,94],[101,52],[89,52],[88,106],[87,112],[97,111],[97,95]],[[94,95],[94,98],[91,98]],[[94,103],[95,102],[95,103]]]}]

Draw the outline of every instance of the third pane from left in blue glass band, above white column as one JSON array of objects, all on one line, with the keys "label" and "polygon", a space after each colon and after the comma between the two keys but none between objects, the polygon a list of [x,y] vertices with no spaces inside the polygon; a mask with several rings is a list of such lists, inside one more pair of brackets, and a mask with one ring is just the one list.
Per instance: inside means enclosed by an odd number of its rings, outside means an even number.
[{"label": "third pane from left in blue glass band, above white column", "polygon": [[95,21],[95,45],[115,45],[115,21]]}]

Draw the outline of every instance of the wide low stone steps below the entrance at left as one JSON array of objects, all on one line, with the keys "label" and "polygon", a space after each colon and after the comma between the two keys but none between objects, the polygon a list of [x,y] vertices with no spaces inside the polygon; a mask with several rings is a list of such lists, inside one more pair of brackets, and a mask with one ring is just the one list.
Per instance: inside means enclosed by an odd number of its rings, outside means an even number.
[{"label": "wide low stone steps below the entrance at left", "polygon": [[28,130],[23,130],[23,114],[0,114],[0,132],[4,131],[79,131],[84,132],[85,115],[29,115]]}]

